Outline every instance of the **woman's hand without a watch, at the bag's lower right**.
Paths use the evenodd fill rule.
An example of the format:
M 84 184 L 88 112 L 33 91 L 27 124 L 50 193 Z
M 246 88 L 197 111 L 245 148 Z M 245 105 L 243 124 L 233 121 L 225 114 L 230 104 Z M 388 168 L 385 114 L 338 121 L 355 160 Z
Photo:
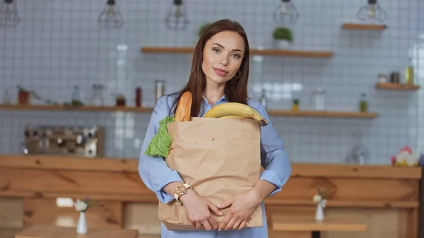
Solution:
M 228 208 L 231 206 L 223 222 L 220 223 L 218 230 L 241 230 L 245 227 L 247 220 L 249 220 L 260 203 L 261 198 L 259 194 L 257 194 L 257 191 L 250 189 L 236 196 L 232 201 L 218 204 L 218 208 Z

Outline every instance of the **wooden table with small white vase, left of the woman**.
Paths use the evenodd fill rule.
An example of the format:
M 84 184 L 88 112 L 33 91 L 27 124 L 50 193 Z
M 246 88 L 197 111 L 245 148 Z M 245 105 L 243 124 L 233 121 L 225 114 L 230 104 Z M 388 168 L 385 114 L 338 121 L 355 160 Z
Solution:
M 15 238 L 136 238 L 138 236 L 137 230 L 88 227 L 87 234 L 77 234 L 74 227 L 34 225 L 16 234 Z

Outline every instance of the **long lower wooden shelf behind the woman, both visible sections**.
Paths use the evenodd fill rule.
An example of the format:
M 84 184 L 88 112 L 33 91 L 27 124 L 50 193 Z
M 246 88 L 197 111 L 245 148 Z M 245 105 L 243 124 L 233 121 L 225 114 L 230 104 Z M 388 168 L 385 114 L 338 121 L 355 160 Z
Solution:
M 83 111 L 83 112 L 152 112 L 152 108 L 146 107 L 64 107 L 51 105 L 0 105 L 0 110 L 16 111 Z M 290 111 L 269 110 L 270 116 L 276 117 L 334 117 L 334 118 L 376 118 L 378 114 L 371 112 L 327 112 L 327 111 Z

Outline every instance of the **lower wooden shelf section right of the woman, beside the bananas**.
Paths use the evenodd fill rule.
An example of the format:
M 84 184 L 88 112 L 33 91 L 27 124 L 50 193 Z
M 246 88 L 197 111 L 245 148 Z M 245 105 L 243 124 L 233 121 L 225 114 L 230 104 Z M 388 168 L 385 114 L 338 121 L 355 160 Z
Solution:
M 332 117 L 332 118 L 363 118 L 373 119 L 378 117 L 374 112 L 328 112 L 328 111 L 277 111 L 270 110 L 270 116 L 277 117 Z

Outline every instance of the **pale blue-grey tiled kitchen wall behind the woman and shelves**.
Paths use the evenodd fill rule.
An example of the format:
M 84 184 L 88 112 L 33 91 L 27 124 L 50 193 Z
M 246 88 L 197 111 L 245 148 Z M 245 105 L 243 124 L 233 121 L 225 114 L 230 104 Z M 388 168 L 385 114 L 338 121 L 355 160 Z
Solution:
M 259 100 L 264 89 L 269 110 L 290 111 L 293 100 L 299 100 L 300 110 L 313 110 L 314 90 L 322 88 L 327 111 L 359 112 L 360 100 L 366 100 L 367 111 L 378 114 L 375 118 L 273 114 L 271 121 L 290 160 L 344 163 L 358 144 L 367 151 L 365 162 L 372 164 L 390 163 L 391 155 L 405 145 L 424 152 L 422 90 L 375 88 L 379 74 L 388 75 L 390 81 L 399 72 L 400 83 L 405 83 L 408 66 L 414 69 L 414 83 L 423 82 L 422 1 L 379 0 L 387 13 L 387 29 L 379 30 L 342 28 L 343 23 L 358 23 L 356 15 L 368 6 L 367 0 L 188 0 L 182 2 L 188 19 L 184 29 L 167 28 L 172 0 L 117 1 L 115 11 L 119 9 L 123 19 L 119 28 L 100 28 L 105 0 L 12 3 L 20 21 L 0 27 L 0 100 L 12 105 L 0 107 L 1 154 L 24 153 L 25 126 L 101 126 L 102 156 L 136 159 L 150 111 L 13 107 L 18 103 L 18 85 L 35 92 L 30 93 L 34 105 L 45 100 L 71 102 L 78 93 L 83 104 L 92 105 L 93 85 L 101 84 L 104 88 L 95 92 L 102 91 L 103 105 L 114 106 L 122 94 L 128 107 L 136 106 L 136 88 L 141 87 L 142 107 L 153 107 L 155 81 L 165 81 L 164 93 L 182 87 L 192 56 L 143 52 L 141 47 L 193 47 L 201 25 L 230 18 L 245 28 L 251 49 L 274 49 L 273 30 L 281 23 L 273 19 L 273 11 L 280 4 L 293 4 L 299 13 L 298 20 L 288 25 L 293 30 L 291 50 L 334 56 L 252 56 L 249 97 Z M 21 100 L 25 102 L 25 97 Z M 32 138 L 40 136 L 27 132 Z M 58 144 L 60 139 L 66 136 L 57 138 Z

